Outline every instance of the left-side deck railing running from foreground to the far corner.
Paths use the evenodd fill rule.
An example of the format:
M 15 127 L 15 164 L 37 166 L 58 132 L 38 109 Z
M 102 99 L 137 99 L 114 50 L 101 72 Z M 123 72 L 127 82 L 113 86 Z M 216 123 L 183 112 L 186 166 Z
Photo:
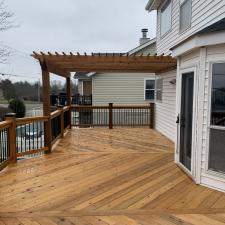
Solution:
M 46 128 L 51 127 L 50 142 Z M 16 119 L 6 115 L 0 123 L 0 170 L 19 158 L 30 158 L 50 152 L 52 145 L 70 127 L 70 107 L 60 107 L 50 117 Z

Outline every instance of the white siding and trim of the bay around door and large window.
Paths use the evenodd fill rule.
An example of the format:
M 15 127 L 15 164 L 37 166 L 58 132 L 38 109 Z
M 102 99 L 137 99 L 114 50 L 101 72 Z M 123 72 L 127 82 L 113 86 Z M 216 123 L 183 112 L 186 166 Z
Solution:
M 208 144 L 209 144 L 209 118 L 210 118 L 210 82 L 211 82 L 211 63 L 225 62 L 225 44 L 210 46 L 192 51 L 179 57 L 178 79 L 182 69 L 196 68 L 196 128 L 194 131 L 195 169 L 193 176 L 197 183 L 214 189 L 225 191 L 225 175 L 208 171 Z M 178 100 L 179 101 L 179 100 Z M 179 105 L 179 104 L 178 104 Z M 177 160 L 179 161 L 179 160 Z M 199 168 L 198 168 L 198 165 Z

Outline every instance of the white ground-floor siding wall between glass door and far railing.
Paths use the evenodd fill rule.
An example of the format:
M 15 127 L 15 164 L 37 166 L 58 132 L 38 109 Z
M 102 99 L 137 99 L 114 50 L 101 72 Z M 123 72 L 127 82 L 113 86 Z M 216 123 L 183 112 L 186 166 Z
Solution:
M 176 140 L 176 85 L 170 81 L 176 79 L 177 71 L 160 75 L 163 78 L 162 101 L 155 104 L 155 128 L 170 140 Z

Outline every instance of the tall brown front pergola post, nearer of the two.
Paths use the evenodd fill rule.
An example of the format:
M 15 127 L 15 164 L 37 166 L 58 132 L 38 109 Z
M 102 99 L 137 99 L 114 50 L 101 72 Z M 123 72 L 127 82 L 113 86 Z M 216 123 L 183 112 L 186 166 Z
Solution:
M 44 124 L 44 133 L 45 133 L 45 146 L 48 147 L 48 153 L 52 150 L 52 141 L 51 141 L 51 104 L 50 104 L 50 73 L 46 62 L 40 62 L 42 69 L 42 98 L 43 98 L 43 115 L 47 116 L 48 122 Z

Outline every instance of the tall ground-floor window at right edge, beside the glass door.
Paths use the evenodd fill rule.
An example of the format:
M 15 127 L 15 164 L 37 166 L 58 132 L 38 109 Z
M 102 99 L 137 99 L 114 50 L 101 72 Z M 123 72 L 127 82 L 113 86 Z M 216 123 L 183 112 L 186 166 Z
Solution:
M 212 67 L 209 169 L 225 172 L 225 63 Z

